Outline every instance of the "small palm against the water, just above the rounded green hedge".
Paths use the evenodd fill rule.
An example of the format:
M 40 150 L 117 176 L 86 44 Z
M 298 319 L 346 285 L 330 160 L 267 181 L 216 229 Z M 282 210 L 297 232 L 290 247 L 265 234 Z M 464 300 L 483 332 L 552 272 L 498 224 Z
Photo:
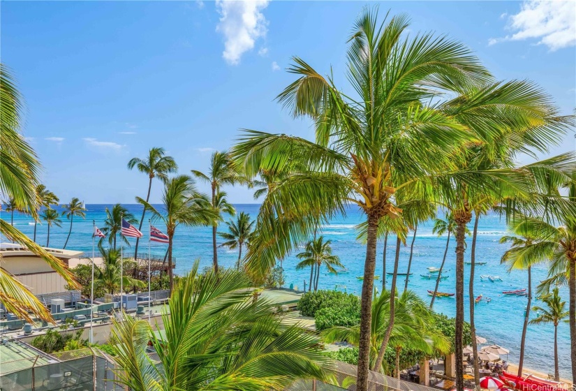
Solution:
M 296 265 L 296 270 L 304 269 L 304 267 L 313 267 L 316 271 L 316 276 L 310 280 L 310 289 L 312 289 L 312 283 L 314 284 L 314 290 L 318 290 L 318 279 L 320 278 L 320 267 L 325 265 L 328 272 L 337 274 L 337 270 L 334 266 L 344 267 L 340 263 L 339 256 L 332 254 L 332 240 L 324 241 L 324 237 L 320 235 L 316 239 L 311 240 L 306 244 L 306 248 L 302 253 L 298 253 L 296 257 L 300 259 L 300 263 Z M 310 273 L 310 276 L 312 273 Z

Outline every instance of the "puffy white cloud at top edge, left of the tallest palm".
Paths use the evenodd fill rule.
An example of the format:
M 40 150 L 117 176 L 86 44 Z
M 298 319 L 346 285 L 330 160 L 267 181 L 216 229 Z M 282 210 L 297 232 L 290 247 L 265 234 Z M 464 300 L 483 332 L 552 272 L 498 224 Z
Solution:
M 268 22 L 261 11 L 268 2 L 216 0 L 216 9 L 220 13 L 216 31 L 224 36 L 222 57 L 228 64 L 239 64 L 242 54 L 252 50 L 258 38 L 266 36 Z

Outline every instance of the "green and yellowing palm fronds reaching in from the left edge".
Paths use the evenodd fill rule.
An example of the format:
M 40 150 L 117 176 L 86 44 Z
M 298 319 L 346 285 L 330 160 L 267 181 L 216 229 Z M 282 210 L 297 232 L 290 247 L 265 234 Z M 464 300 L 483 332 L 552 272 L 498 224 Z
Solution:
M 40 163 L 36 152 L 20 133 L 22 128 L 22 96 L 15 86 L 13 75 L 0 63 L 0 193 L 15 200 L 22 210 L 29 210 L 38 219 L 38 172 Z M 48 253 L 11 224 L 0 219 L 0 233 L 39 256 L 64 278 L 72 288 L 78 283 L 58 258 Z M 6 310 L 32 323 L 32 316 L 52 320 L 50 311 L 26 286 L 0 267 L 0 302 Z

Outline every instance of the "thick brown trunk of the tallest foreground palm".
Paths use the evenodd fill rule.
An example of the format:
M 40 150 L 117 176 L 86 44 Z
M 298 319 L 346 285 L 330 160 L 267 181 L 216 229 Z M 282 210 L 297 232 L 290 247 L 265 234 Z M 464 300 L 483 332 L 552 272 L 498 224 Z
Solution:
M 370 344 L 372 323 L 372 292 L 374 291 L 374 270 L 376 269 L 376 241 L 378 239 L 377 214 L 368 214 L 366 260 L 364 261 L 364 280 L 360 304 L 360 341 L 358 344 L 357 391 L 368 390 L 368 371 L 370 369 Z

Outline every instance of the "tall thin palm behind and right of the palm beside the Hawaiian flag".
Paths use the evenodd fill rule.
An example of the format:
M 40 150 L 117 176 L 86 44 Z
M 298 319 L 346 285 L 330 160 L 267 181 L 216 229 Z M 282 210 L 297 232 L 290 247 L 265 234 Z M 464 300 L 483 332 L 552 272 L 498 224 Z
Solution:
M 210 168 L 207 174 L 198 170 L 192 170 L 191 172 L 192 175 L 210 185 L 210 191 L 212 192 L 211 203 L 214 209 L 217 209 L 216 198 L 221 187 L 225 184 L 235 184 L 241 180 L 237 171 L 232 168 L 230 154 L 226 151 L 216 151 L 212 153 L 212 157 L 210 158 Z M 217 228 L 217 226 L 212 226 L 212 263 L 214 264 L 214 270 L 216 271 L 218 271 L 218 251 L 216 251 Z

